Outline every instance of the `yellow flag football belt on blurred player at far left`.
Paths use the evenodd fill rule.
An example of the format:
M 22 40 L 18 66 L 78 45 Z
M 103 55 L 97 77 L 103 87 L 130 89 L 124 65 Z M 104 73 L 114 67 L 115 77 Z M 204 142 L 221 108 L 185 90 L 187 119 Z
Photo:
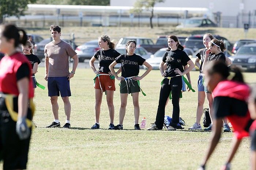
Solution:
M 6 108 L 9 112 L 12 120 L 17 121 L 18 113 L 14 111 L 14 104 L 13 104 L 13 99 L 14 99 L 14 97 L 17 97 L 17 96 L 14 96 L 12 94 L 0 93 L 0 97 L 4 98 Z M 29 99 L 29 108 L 31 109 L 31 119 L 32 119 L 32 117 L 34 116 L 34 112 L 35 112 L 35 105 L 34 105 L 32 99 Z M 34 128 L 34 124 L 32 123 L 32 120 L 30 120 L 28 118 L 26 118 L 26 124 L 27 124 L 27 127 Z

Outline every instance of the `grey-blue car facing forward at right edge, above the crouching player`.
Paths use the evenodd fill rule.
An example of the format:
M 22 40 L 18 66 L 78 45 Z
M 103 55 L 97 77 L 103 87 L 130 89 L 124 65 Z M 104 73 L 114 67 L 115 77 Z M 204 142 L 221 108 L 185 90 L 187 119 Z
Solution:
M 241 46 L 230 59 L 233 61 L 232 65 L 256 72 L 256 43 Z

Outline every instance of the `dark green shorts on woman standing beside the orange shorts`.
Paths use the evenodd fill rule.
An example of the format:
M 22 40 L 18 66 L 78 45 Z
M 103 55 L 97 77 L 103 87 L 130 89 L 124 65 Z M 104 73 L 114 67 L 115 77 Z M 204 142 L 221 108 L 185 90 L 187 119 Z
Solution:
M 137 81 L 134 81 L 132 79 L 128 79 L 128 80 L 126 80 L 126 82 L 125 82 L 125 80 L 121 81 L 120 93 L 128 93 L 128 94 L 130 94 L 130 93 L 140 92 L 140 87 L 139 87 Z

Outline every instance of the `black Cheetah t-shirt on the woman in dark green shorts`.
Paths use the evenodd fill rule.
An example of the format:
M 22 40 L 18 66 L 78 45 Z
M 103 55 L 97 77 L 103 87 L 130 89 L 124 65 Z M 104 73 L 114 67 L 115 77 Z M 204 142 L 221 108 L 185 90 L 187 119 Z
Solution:
M 146 59 L 136 54 L 121 54 L 119 57 L 116 58 L 116 62 L 122 64 L 123 77 L 138 76 L 140 66 L 143 65 L 144 61 L 146 61 Z

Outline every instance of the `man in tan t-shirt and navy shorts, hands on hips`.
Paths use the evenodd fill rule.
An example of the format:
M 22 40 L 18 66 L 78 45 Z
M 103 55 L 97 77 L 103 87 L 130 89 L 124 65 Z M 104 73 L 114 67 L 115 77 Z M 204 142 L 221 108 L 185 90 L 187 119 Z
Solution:
M 48 96 L 52 104 L 54 121 L 48 127 L 60 127 L 58 96 L 64 102 L 66 121 L 63 128 L 70 128 L 71 96 L 69 80 L 74 77 L 78 57 L 71 45 L 60 39 L 61 28 L 50 26 L 53 41 L 45 45 L 45 80 L 48 81 Z M 69 56 L 74 59 L 73 69 L 69 73 Z

